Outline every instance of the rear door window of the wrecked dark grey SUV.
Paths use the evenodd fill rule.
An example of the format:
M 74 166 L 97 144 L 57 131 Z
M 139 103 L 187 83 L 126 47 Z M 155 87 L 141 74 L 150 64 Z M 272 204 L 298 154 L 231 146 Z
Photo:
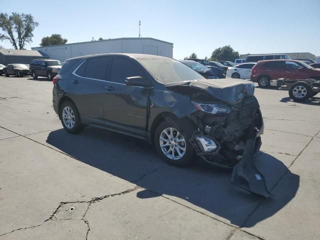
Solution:
M 106 79 L 109 59 L 110 57 L 93 57 L 87 59 L 84 76 L 94 79 Z

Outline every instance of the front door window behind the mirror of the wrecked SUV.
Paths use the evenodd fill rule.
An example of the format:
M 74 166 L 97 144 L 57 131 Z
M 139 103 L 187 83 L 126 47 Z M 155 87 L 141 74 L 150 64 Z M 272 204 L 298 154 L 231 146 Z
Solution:
M 112 61 L 110 81 L 124 83 L 126 77 L 142 76 L 142 69 L 131 59 L 115 57 Z

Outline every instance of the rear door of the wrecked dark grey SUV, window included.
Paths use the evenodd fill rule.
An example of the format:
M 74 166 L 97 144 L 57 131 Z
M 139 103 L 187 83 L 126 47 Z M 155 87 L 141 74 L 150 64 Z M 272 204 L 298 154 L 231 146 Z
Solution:
M 83 123 L 103 124 L 103 94 L 110 56 L 91 57 L 80 63 L 68 80 L 68 92 Z

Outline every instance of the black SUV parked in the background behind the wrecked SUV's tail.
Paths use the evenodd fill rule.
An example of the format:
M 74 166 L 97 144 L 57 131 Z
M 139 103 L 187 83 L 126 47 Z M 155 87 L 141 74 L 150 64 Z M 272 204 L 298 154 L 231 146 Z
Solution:
M 45 76 L 49 80 L 58 73 L 61 68 L 62 63 L 59 60 L 39 58 L 33 59 L 29 65 L 29 71 L 33 79 L 38 78 L 38 76 Z

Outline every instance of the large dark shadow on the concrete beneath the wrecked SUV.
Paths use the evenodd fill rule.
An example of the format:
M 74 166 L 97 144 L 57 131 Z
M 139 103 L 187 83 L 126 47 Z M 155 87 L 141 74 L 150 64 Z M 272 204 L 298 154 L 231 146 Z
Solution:
M 200 163 L 173 167 L 163 162 L 145 141 L 107 130 L 86 127 L 74 135 L 59 129 L 51 131 L 46 142 L 79 161 L 145 188 L 136 193 L 139 198 L 169 197 L 236 226 L 252 226 L 273 215 L 295 196 L 299 186 L 298 175 L 264 152 L 257 157 L 256 166 L 264 174 L 268 189 L 283 175 L 289 181 L 280 194 L 267 199 L 232 184 L 230 171 Z M 261 201 L 268 202 L 267 211 L 245 223 Z

